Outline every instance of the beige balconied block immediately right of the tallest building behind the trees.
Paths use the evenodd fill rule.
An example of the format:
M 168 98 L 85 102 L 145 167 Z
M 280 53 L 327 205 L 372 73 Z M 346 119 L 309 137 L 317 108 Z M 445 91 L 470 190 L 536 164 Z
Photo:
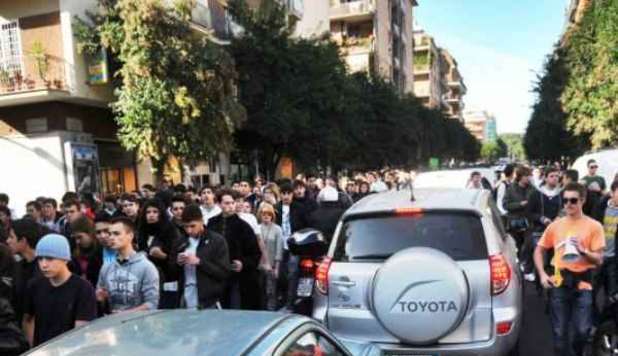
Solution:
M 414 95 L 429 108 L 446 109 L 446 65 L 434 38 L 414 31 Z

